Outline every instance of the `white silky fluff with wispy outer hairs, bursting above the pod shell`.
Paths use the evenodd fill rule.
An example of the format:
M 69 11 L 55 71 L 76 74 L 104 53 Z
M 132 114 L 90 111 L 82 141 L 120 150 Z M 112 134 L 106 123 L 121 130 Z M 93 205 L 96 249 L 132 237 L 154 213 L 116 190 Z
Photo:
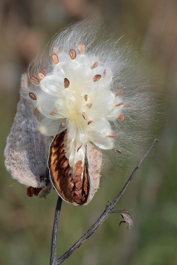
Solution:
M 38 130 L 55 136 L 67 129 L 64 146 L 73 168 L 79 160 L 84 164 L 89 141 L 119 152 L 124 117 L 133 126 L 135 115 L 142 117 L 148 108 L 141 84 L 128 73 L 124 49 L 103 41 L 104 34 L 89 24 L 76 23 L 59 33 L 50 54 L 39 55 L 29 67 L 29 92 L 36 96 L 31 100 L 40 112 Z

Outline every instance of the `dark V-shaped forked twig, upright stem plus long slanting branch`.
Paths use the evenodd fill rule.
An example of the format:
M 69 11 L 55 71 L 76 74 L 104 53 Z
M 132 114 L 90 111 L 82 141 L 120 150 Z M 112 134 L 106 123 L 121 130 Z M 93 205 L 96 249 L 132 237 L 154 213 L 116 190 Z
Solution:
M 104 210 L 104 212 L 102 213 L 102 215 L 98 218 L 98 220 L 93 224 L 93 226 L 91 226 L 88 231 L 70 248 L 66 251 L 66 253 L 64 253 L 58 260 L 56 260 L 56 247 L 57 247 L 57 227 L 58 227 L 58 221 L 59 221 L 59 213 L 60 213 L 60 209 L 61 209 L 61 203 L 60 203 L 60 209 L 59 209 L 59 213 L 56 213 L 57 211 L 57 207 L 56 207 L 56 211 L 55 211 L 55 219 L 54 219 L 54 229 L 53 229 L 53 235 L 52 235 L 52 246 L 51 246 L 51 263 L 50 265 L 61 265 L 68 257 L 70 257 L 70 255 L 72 255 L 96 230 L 98 227 L 101 226 L 101 224 L 104 222 L 104 220 L 108 217 L 109 214 L 114 213 L 113 207 L 116 205 L 116 203 L 119 201 L 120 197 L 122 197 L 123 193 L 126 191 L 126 189 L 128 188 L 129 184 L 131 183 L 133 177 L 136 174 L 136 171 L 139 169 L 139 166 L 141 165 L 141 163 L 144 161 L 144 159 L 146 158 L 146 156 L 149 154 L 150 150 L 152 149 L 152 147 L 154 146 L 154 144 L 158 142 L 158 139 L 154 139 L 153 143 L 151 144 L 151 146 L 149 147 L 148 151 L 145 153 L 145 155 L 143 156 L 143 158 L 140 160 L 140 162 L 137 164 L 137 166 L 135 167 L 135 169 L 133 170 L 131 176 L 129 177 L 129 179 L 127 180 L 126 184 L 124 185 L 124 187 L 121 189 L 121 191 L 119 192 L 119 194 L 115 197 L 115 199 L 110 202 L 110 205 L 106 205 L 106 209 Z M 58 198 L 58 201 L 61 200 Z M 57 201 L 57 205 L 58 205 L 58 201 Z M 116 211 L 119 212 L 120 210 Z M 58 217 L 57 217 L 58 214 Z M 56 223 L 55 223 L 56 222 Z M 54 241 L 54 242 L 53 242 Z M 52 263 L 53 262 L 53 263 Z

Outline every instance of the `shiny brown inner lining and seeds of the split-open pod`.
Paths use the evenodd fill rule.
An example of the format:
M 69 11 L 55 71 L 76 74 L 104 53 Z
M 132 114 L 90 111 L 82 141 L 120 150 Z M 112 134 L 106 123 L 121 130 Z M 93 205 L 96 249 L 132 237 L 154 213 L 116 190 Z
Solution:
M 89 195 L 87 155 L 85 155 L 83 181 L 81 181 L 82 167 L 76 169 L 76 176 L 73 178 L 69 161 L 65 156 L 64 143 L 66 140 L 64 138 L 66 137 L 67 131 L 63 131 L 55 136 L 50 145 L 48 161 L 50 178 L 54 188 L 63 200 L 74 205 L 83 205 L 87 202 Z M 79 161 L 77 163 L 79 166 Z M 77 165 L 75 166 L 77 167 Z

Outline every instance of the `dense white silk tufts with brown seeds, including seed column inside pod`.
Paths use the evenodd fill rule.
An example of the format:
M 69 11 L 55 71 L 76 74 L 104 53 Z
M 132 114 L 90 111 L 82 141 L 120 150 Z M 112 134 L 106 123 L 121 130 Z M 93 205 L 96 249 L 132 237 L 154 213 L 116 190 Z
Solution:
M 85 54 L 85 45 L 69 54 L 54 47 L 51 55 L 53 70 L 43 68 L 38 77 L 31 76 L 36 93 L 29 97 L 36 113 L 43 120 L 35 133 L 46 136 L 59 135 L 58 160 L 73 200 L 84 200 L 87 195 L 87 172 L 85 146 L 88 142 L 101 149 L 113 149 L 118 135 L 111 129 L 110 122 L 123 121 L 123 90 L 112 91 L 111 67 L 93 55 Z M 64 134 L 63 134 L 64 132 Z M 85 179 L 85 180 L 84 180 Z

